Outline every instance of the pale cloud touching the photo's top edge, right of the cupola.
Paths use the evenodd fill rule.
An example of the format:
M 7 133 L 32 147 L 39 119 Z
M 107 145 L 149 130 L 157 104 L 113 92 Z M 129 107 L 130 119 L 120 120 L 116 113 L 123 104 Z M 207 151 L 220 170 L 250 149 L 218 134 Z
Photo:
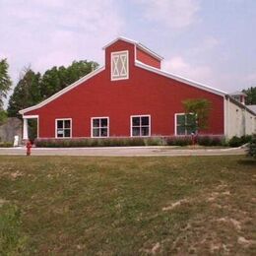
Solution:
M 139 2 L 143 4 L 143 15 L 146 19 L 175 29 L 193 24 L 200 9 L 199 0 L 139 0 Z

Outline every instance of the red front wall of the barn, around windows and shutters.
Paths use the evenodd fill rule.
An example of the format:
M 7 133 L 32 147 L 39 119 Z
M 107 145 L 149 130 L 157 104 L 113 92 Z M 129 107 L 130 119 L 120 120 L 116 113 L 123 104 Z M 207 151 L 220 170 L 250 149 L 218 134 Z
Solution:
M 110 52 L 129 50 L 129 79 L 110 81 Z M 208 134 L 224 134 L 224 98 L 136 67 L 134 45 L 117 41 L 105 50 L 105 69 L 42 106 L 27 112 L 39 115 L 39 137 L 55 137 L 55 118 L 72 118 L 73 137 L 91 136 L 91 117 L 109 116 L 110 136 L 130 136 L 130 116 L 150 114 L 152 135 L 173 135 L 174 114 L 181 101 L 208 98 L 213 103 Z

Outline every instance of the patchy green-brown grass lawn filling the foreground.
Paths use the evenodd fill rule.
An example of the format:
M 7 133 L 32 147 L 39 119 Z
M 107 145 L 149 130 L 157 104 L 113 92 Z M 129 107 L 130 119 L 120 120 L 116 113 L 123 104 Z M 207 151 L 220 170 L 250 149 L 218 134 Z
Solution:
M 256 161 L 0 156 L 0 254 L 256 254 Z

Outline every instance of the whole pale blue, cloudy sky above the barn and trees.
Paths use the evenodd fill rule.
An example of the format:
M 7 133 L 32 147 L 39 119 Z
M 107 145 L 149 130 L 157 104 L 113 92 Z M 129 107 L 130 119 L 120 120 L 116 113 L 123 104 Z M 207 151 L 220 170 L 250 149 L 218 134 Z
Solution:
M 227 93 L 256 86 L 255 0 L 0 0 L 13 87 L 29 65 L 103 65 L 102 47 L 120 35 L 163 56 L 170 73 Z

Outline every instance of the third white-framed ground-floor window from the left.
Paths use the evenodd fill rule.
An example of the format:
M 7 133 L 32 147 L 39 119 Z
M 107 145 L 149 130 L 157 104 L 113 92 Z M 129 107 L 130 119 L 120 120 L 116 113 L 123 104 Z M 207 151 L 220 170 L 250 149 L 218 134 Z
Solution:
M 131 116 L 131 136 L 150 136 L 151 135 L 150 115 Z

